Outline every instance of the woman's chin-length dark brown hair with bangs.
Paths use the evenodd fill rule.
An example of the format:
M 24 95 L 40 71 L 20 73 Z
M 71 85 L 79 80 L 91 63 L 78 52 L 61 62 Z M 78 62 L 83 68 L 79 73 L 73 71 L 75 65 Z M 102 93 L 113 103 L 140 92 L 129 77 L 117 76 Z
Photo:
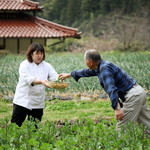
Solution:
M 42 44 L 39 43 L 32 43 L 26 53 L 26 57 L 28 59 L 29 62 L 33 62 L 32 60 L 32 54 L 33 52 L 42 52 L 43 53 L 43 60 L 45 60 L 45 50 L 44 47 L 42 46 Z

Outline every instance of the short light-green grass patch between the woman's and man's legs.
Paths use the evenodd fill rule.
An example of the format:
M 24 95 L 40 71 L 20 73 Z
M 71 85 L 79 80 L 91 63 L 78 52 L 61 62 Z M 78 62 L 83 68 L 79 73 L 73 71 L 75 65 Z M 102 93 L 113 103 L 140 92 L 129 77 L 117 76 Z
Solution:
M 46 102 L 44 120 L 112 119 L 114 112 L 108 100 Z

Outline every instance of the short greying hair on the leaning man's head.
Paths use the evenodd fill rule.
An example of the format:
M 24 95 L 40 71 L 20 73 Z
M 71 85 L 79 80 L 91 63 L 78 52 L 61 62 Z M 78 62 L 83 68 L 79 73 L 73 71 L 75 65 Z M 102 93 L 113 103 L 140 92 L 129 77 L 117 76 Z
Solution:
M 101 56 L 95 49 L 89 49 L 84 54 L 85 60 L 92 60 L 94 62 L 100 62 Z

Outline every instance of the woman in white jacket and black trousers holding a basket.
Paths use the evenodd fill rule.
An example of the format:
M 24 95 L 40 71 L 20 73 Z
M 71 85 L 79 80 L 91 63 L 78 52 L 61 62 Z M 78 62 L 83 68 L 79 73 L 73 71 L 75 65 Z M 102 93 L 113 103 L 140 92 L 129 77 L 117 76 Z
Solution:
M 41 44 L 33 43 L 26 54 L 27 59 L 19 67 L 19 82 L 14 100 L 12 123 L 19 127 L 26 116 L 41 121 L 45 101 L 45 87 L 48 80 L 57 80 L 58 74 L 54 68 L 45 62 L 45 51 Z

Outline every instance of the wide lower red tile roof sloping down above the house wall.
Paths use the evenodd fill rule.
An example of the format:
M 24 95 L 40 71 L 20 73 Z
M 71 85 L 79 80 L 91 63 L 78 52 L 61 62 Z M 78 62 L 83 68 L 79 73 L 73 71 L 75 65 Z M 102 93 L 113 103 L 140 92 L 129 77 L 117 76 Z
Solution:
M 77 29 L 62 26 L 38 17 L 18 13 L 0 19 L 0 38 L 80 37 Z

